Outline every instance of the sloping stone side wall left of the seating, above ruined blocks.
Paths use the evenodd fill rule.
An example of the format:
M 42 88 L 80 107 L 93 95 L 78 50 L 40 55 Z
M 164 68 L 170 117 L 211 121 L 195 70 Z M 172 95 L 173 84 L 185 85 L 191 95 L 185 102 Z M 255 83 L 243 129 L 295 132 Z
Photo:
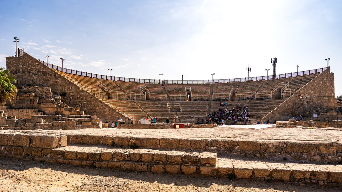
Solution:
M 71 83 L 32 56 L 24 53 L 23 57 L 6 57 L 7 69 L 17 80 L 17 87 L 23 86 L 50 87 L 52 94 L 66 93 L 70 106 L 77 106 L 86 114 L 96 115 L 102 121 L 111 122 L 125 116 L 109 107 L 92 94 Z

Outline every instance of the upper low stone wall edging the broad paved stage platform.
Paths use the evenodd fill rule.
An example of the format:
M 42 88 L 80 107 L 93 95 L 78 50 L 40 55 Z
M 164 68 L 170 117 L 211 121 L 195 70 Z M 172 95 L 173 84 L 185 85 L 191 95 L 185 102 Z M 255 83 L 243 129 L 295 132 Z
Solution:
M 259 142 L 255 140 L 232 141 L 227 139 L 178 139 L 115 137 L 97 135 L 68 135 L 69 144 L 108 145 L 129 147 L 134 140 L 138 147 L 147 149 L 185 150 L 186 152 L 233 153 L 251 157 L 291 159 L 294 161 L 339 163 L 342 161 L 342 144 L 332 142 L 297 143 L 291 141 Z

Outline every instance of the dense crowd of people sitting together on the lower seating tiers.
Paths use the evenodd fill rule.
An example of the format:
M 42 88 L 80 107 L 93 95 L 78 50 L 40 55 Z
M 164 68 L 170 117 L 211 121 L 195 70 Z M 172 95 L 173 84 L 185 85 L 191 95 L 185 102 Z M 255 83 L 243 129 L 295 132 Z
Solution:
M 221 103 L 220 103 L 221 106 Z M 208 121 L 223 125 L 224 121 L 233 121 L 231 124 L 235 124 L 238 121 L 245 121 L 245 124 L 249 123 L 251 114 L 247 112 L 248 105 L 236 105 L 236 108 L 221 108 L 213 113 L 209 114 Z

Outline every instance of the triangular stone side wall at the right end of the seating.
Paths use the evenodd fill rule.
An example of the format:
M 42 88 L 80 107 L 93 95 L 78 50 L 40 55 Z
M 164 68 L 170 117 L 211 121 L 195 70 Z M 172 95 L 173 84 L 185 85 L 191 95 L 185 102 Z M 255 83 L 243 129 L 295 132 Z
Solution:
M 303 106 L 304 113 L 311 108 L 333 110 L 337 107 L 334 90 L 334 73 L 330 73 L 328 68 L 267 114 L 262 121 L 284 121 L 292 117 L 299 117 L 303 115 Z M 303 105 L 301 98 L 305 97 Z M 305 113 L 304 118 L 307 115 L 309 114 Z M 319 115 L 317 117 L 320 118 Z

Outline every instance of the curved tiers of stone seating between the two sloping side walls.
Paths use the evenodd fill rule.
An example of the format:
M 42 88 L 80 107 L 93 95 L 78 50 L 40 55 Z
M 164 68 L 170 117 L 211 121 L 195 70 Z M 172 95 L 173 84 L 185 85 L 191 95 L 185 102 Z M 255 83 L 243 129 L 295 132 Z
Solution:
M 179 116 L 181 121 L 197 122 L 197 119 L 207 119 L 208 110 L 210 113 L 220 108 L 235 108 L 237 104 L 248 104 L 251 121 L 261 121 L 295 91 L 319 75 L 251 82 L 161 85 L 110 81 L 54 71 L 126 117 L 134 120 L 158 117 L 159 122 L 165 122 L 166 118 L 172 122 L 175 116 Z M 254 99 L 251 99 L 252 96 Z M 220 106 L 223 101 L 226 105 Z M 170 110 L 168 103 L 175 103 L 174 106 L 178 108 Z M 177 110 L 180 108 L 178 105 L 181 110 Z

